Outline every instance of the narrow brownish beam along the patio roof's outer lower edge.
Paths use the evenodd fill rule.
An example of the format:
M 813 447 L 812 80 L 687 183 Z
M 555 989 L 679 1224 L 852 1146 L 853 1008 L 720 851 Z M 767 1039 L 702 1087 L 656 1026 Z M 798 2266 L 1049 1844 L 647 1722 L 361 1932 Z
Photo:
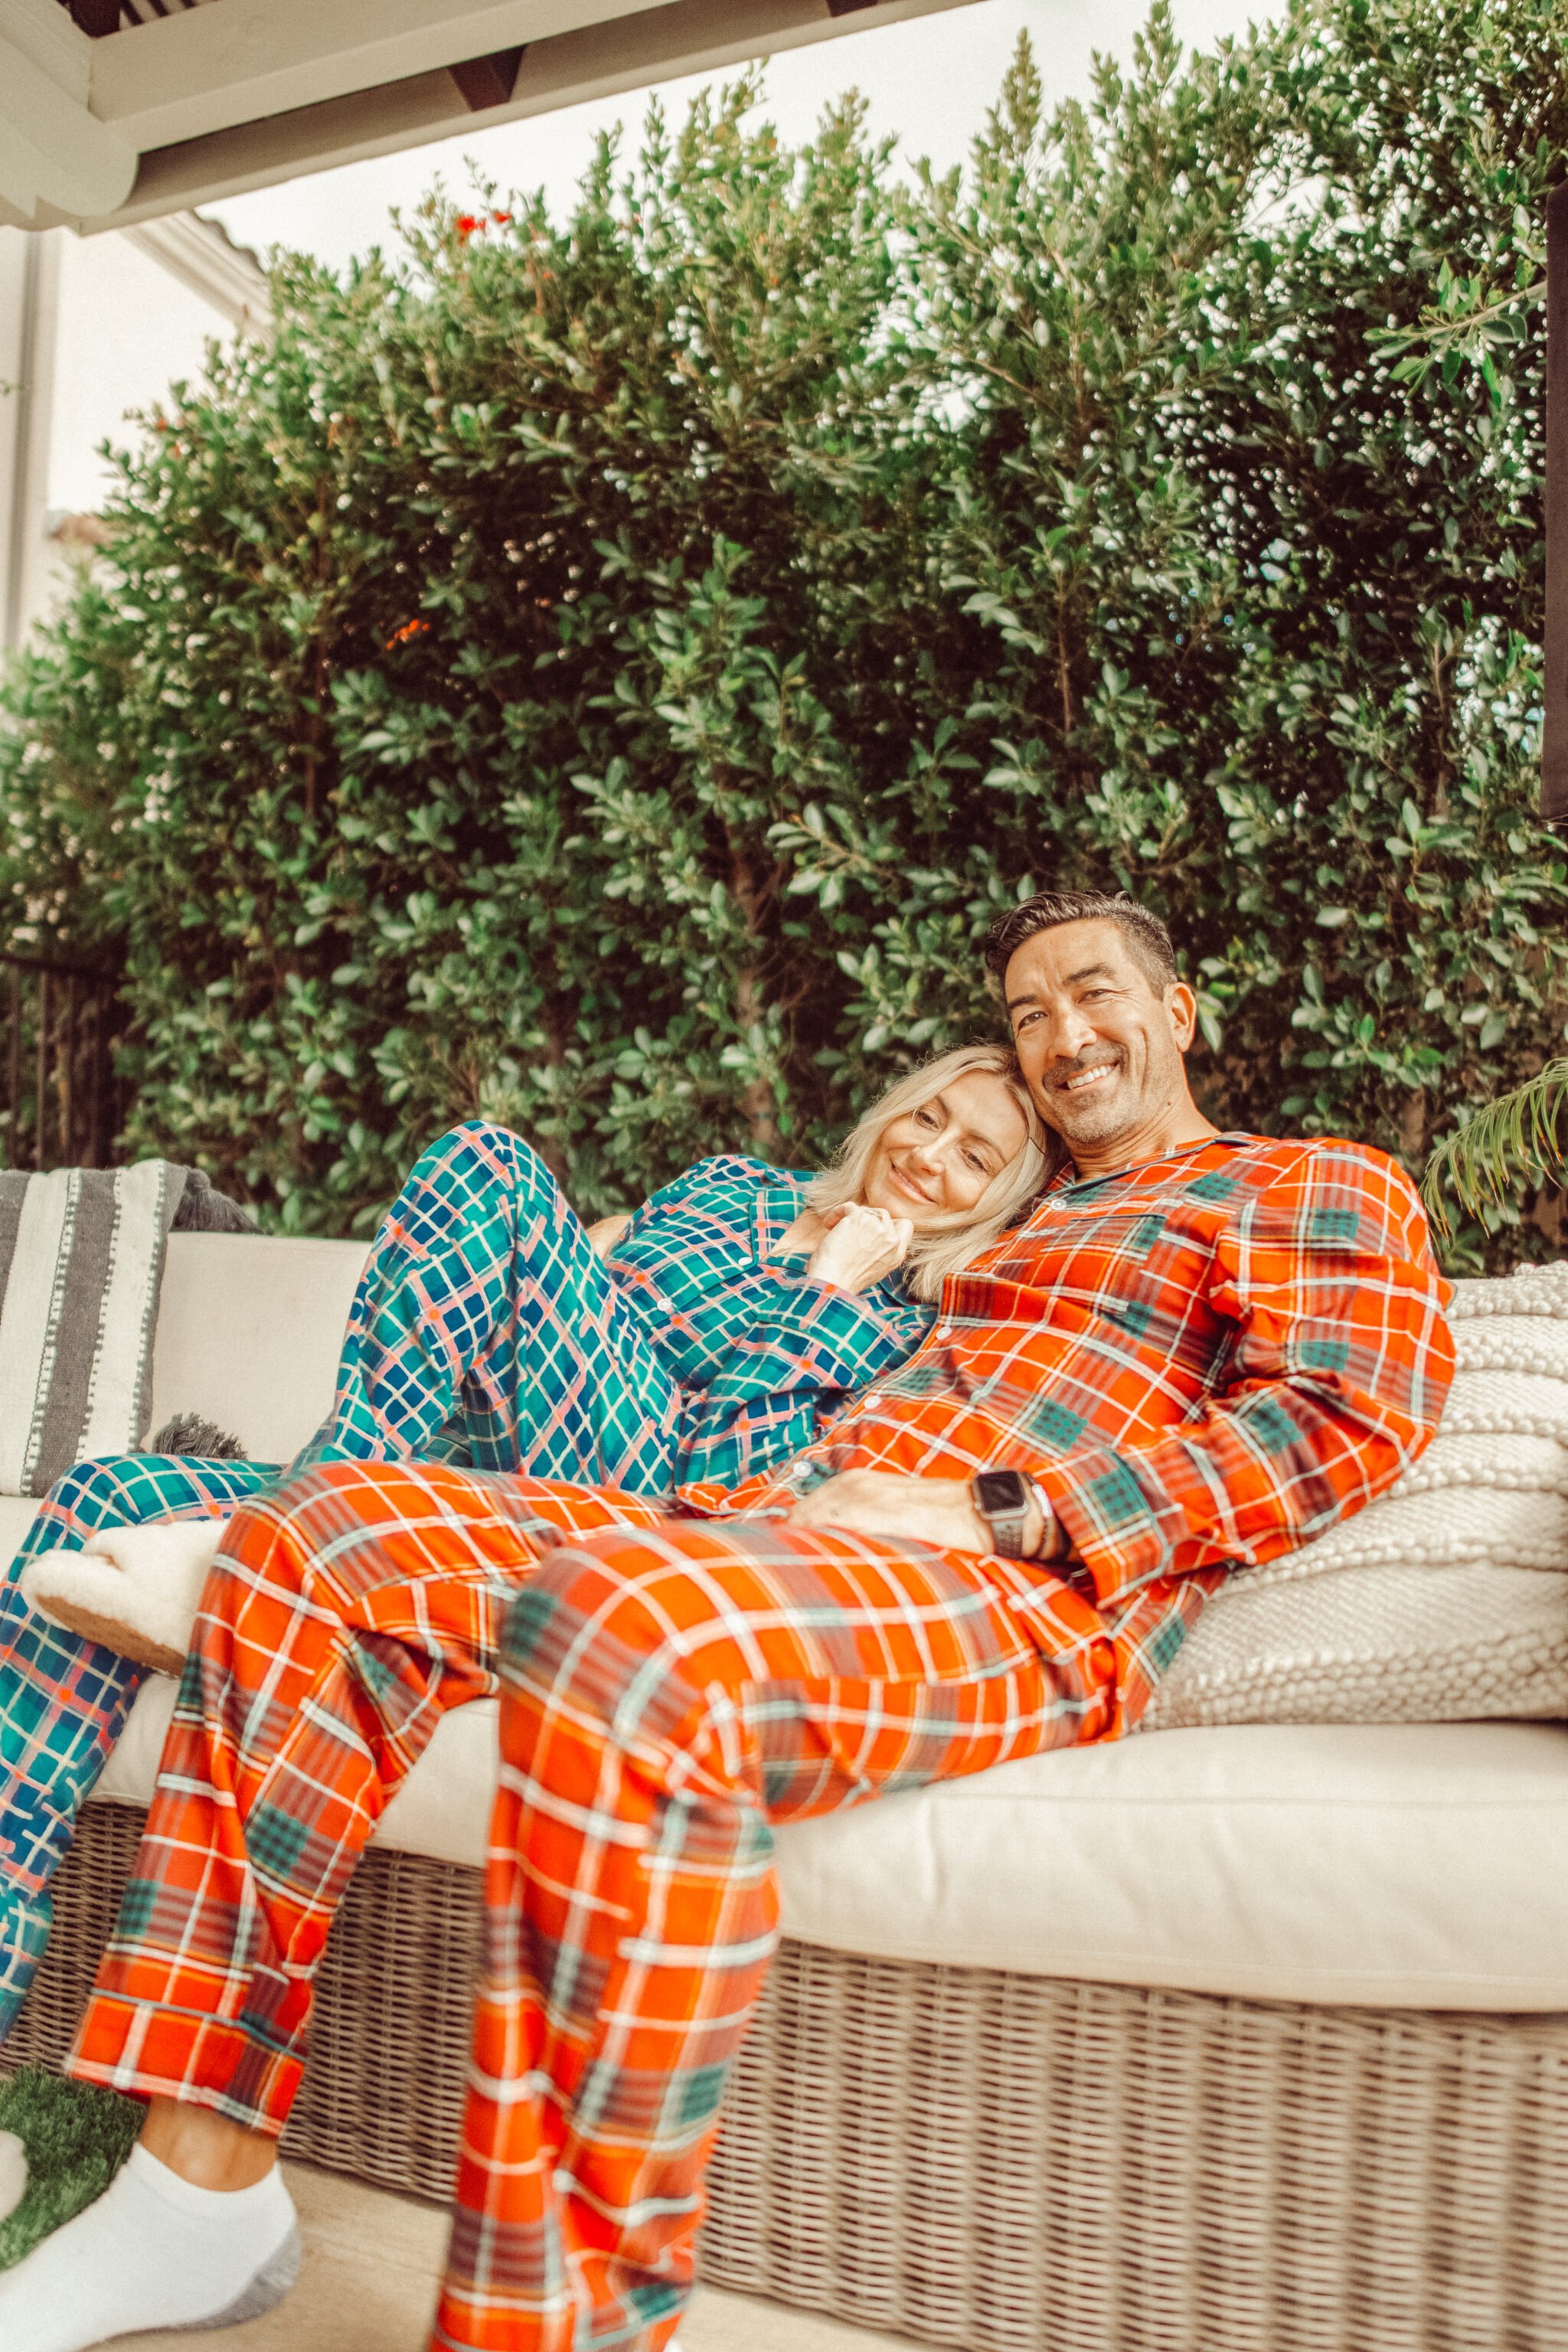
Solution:
M 193 14 L 221 16 L 233 5 L 235 0 L 221 0 Z M 879 24 L 903 24 L 954 5 L 964 7 L 969 0 L 882 0 L 877 7 L 846 14 L 835 14 L 827 0 L 668 0 L 637 16 L 531 42 L 510 101 L 482 115 L 468 111 L 451 75 L 442 71 L 172 143 L 143 155 L 125 205 L 82 219 L 80 226 L 120 228 L 223 195 L 273 188 L 306 172 L 329 172 L 367 155 L 393 155 L 433 139 L 451 139 L 470 127 L 520 122 L 588 99 L 646 89 L 651 82 L 686 73 L 715 73 L 769 52 L 797 49 L 837 33 L 867 33 Z

